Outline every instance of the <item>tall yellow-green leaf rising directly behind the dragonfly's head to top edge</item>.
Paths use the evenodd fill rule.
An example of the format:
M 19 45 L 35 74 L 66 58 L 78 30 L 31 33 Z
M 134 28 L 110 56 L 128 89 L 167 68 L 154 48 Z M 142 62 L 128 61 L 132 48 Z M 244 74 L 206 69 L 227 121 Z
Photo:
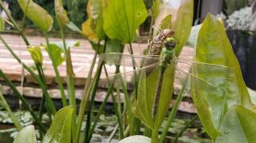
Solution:
M 174 2 L 171 0 L 169 2 Z M 174 6 L 175 9 L 175 6 Z M 175 11 L 175 10 L 174 10 Z M 194 16 L 194 1 L 184 0 L 181 1 L 176 14 L 172 14 L 172 29 L 175 31 L 175 38 L 178 38 L 179 43 L 175 47 L 175 54 L 178 57 L 182 51 L 182 47 L 186 44 L 190 36 L 190 30 L 193 23 Z

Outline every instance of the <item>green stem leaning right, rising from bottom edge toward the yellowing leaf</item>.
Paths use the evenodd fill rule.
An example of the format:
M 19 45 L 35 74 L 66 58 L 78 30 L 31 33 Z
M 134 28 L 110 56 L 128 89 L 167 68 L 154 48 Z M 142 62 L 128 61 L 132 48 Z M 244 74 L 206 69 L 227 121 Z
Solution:
M 99 46 L 99 43 L 98 43 L 98 46 Z M 91 77 L 92 77 L 92 73 L 94 70 L 96 59 L 97 59 L 97 52 L 95 52 L 95 54 L 94 54 L 94 59 L 90 65 L 90 70 L 89 70 L 88 76 L 86 78 L 86 85 L 84 86 L 84 89 L 83 89 L 83 94 L 82 94 L 83 96 L 82 96 L 82 100 L 80 103 L 80 109 L 79 109 L 79 113 L 78 113 L 78 123 L 77 123 L 77 131 L 76 131 L 77 134 L 75 137 L 75 142 L 77 142 L 77 143 L 79 142 L 82 120 L 83 120 L 83 116 L 86 111 L 86 105 L 87 105 L 87 101 L 89 99 L 90 89 L 92 88 L 92 85 L 93 85 L 92 83 L 94 83 L 94 80 L 92 80 Z

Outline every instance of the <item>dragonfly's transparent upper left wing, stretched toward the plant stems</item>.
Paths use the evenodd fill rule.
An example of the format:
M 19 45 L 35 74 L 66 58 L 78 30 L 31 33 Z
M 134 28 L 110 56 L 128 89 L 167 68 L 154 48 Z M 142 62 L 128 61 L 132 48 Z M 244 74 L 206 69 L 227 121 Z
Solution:
M 99 59 L 106 62 L 106 64 L 110 66 L 116 65 L 141 68 L 143 66 L 150 66 L 151 61 L 154 61 L 154 63 L 159 62 L 161 57 L 157 55 L 134 56 L 131 54 L 107 53 L 100 54 Z

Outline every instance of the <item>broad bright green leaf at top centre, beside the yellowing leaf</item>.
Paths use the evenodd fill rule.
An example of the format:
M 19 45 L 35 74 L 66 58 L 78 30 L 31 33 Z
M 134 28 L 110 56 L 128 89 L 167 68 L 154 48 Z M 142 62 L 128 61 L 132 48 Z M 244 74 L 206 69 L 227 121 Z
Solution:
M 146 16 L 143 0 L 110 0 L 103 6 L 103 28 L 108 37 L 130 43 Z

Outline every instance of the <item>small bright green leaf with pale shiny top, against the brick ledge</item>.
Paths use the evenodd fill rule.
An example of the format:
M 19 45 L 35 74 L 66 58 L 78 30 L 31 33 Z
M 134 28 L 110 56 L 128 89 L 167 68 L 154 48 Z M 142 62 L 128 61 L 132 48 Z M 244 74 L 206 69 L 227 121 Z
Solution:
M 76 41 L 67 41 L 66 47 L 67 50 L 70 49 L 70 47 L 79 46 L 80 42 Z M 46 48 L 46 51 L 48 52 L 48 47 L 46 45 L 43 45 Z M 53 55 L 54 55 L 54 61 L 56 62 L 57 66 L 60 66 L 62 62 L 66 59 L 66 54 L 63 46 L 63 42 L 51 42 L 50 47 L 52 49 Z

